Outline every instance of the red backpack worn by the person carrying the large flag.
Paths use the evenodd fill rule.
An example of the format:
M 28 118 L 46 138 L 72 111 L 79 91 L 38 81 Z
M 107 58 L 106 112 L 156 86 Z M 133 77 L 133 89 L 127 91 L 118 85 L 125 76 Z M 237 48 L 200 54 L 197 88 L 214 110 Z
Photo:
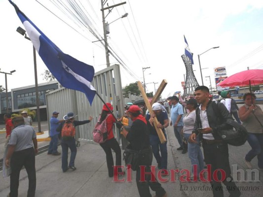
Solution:
M 93 134 L 93 141 L 101 144 L 106 142 L 108 138 L 108 131 L 107 131 L 107 118 L 110 116 L 110 114 L 107 115 L 107 117 L 100 123 L 97 122 L 95 125 L 94 130 L 92 131 Z M 101 119 L 101 117 L 100 117 Z M 99 120 L 100 120 L 99 119 Z

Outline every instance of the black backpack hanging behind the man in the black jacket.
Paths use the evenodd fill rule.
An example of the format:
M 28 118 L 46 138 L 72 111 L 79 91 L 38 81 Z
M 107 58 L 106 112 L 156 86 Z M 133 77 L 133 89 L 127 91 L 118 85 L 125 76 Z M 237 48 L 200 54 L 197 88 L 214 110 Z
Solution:
M 215 114 L 220 116 L 218 103 L 213 101 L 212 107 Z M 233 129 L 218 131 L 222 140 L 232 146 L 241 146 L 245 144 L 248 138 L 248 131 L 246 128 L 234 120 L 227 120 L 225 124 L 228 124 Z

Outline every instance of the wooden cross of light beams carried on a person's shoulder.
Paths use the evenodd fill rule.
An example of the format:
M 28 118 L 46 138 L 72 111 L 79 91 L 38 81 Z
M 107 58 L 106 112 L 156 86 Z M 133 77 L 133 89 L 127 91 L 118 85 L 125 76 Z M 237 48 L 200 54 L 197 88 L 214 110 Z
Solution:
M 153 110 L 151 108 L 151 105 L 156 102 L 156 100 L 161 96 L 162 94 L 162 91 L 164 90 L 165 86 L 166 86 L 167 82 L 166 80 L 162 80 L 157 92 L 155 93 L 154 97 L 152 98 L 151 102 L 149 102 L 147 96 L 146 96 L 146 93 L 144 92 L 144 88 L 143 88 L 143 85 L 140 81 L 138 81 L 138 87 L 139 87 L 139 90 L 141 91 L 142 93 L 142 96 L 143 96 L 143 99 L 144 99 L 144 102 L 147 106 L 147 109 L 149 110 L 150 114 L 153 113 Z M 162 132 L 162 130 L 160 128 L 157 128 L 157 124 L 158 124 L 158 120 L 156 118 L 156 116 L 154 117 L 154 121 L 153 121 L 153 125 L 154 125 L 154 128 L 155 130 L 157 131 L 157 134 L 158 134 L 158 137 L 161 141 L 161 143 L 165 143 L 166 142 L 166 139 L 164 137 L 164 134 Z

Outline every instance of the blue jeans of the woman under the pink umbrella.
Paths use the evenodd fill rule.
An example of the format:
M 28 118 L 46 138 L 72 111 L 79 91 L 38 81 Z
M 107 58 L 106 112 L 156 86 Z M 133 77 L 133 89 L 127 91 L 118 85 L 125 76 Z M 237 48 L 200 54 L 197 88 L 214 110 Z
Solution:
M 248 143 L 251 150 L 246 155 L 245 159 L 248 162 L 258 156 L 258 165 L 263 168 L 263 133 L 248 133 Z

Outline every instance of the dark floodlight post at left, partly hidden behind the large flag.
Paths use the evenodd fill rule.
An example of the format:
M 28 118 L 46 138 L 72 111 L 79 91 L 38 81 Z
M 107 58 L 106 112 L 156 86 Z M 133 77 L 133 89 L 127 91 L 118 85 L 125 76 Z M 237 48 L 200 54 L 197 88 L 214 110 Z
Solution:
M 16 30 L 18 33 L 23 35 L 26 39 L 31 40 L 27 34 L 26 31 L 18 27 Z M 36 87 L 36 102 L 37 102 L 37 116 L 38 116 L 38 132 L 41 132 L 41 124 L 40 124 L 40 110 L 39 110 L 39 95 L 38 95 L 38 71 L 37 71 L 37 57 L 36 57 L 36 49 L 33 45 L 33 58 L 34 58 L 34 70 L 35 70 L 35 87 Z

